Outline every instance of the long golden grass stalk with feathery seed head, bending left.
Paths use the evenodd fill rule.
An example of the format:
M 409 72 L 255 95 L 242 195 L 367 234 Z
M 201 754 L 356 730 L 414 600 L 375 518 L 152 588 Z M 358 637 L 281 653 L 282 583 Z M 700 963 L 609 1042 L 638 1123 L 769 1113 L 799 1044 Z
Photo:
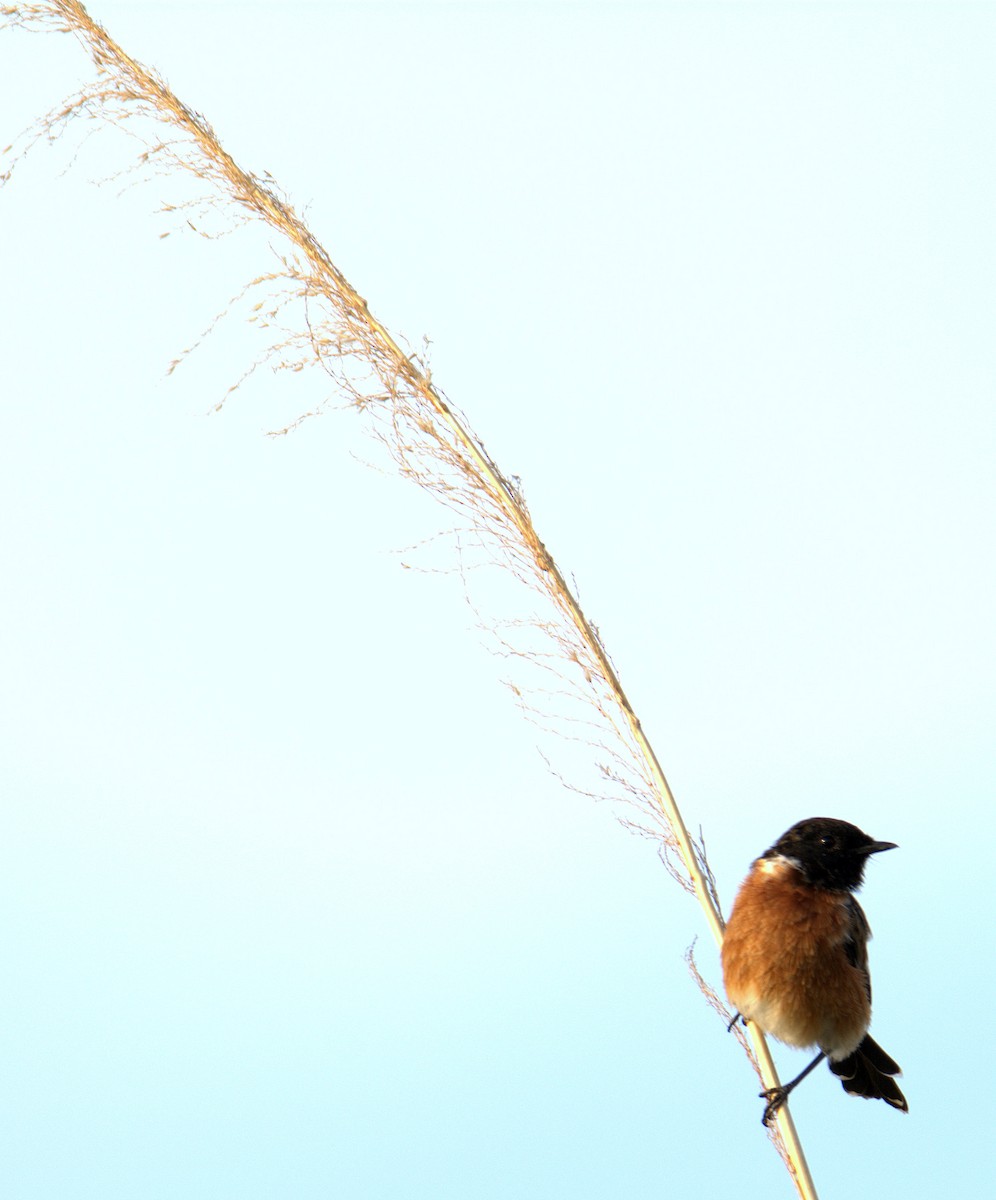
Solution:
M 665 865 L 695 894 L 720 943 L 724 920 L 704 853 L 689 835 L 598 630 L 540 540 L 517 481 L 502 473 L 467 420 L 432 382 L 424 358 L 398 346 L 293 208 L 277 194 L 272 181 L 244 170 L 222 148 L 205 118 L 184 104 L 155 72 L 126 54 L 82 4 L 49 0 L 4 6 L 0 18 L 7 26 L 73 34 L 97 67 L 88 86 L 29 131 L 0 182 L 10 179 L 14 163 L 37 140 L 59 137 L 77 119 L 101 121 L 127 127 L 142 143 L 138 162 L 130 169 L 184 172 L 198 181 L 198 197 L 164 205 L 164 211 L 203 215 L 221 205 L 229 226 L 263 222 L 271 242 L 277 235 L 277 269 L 252 280 L 235 301 L 262 295 L 250 319 L 268 329 L 280 328 L 281 336 L 276 341 L 271 337 L 263 356 L 229 394 L 264 362 L 278 370 L 322 367 L 334 380 L 334 395 L 370 419 L 401 474 L 457 515 L 461 552 L 469 536 L 486 560 L 526 584 L 534 601 L 536 594 L 542 598 L 545 614 L 492 626 L 505 653 L 547 673 L 550 688 L 541 691 L 544 700 L 539 703 L 534 692 L 512 685 L 520 703 L 541 722 L 556 720 L 548 706 L 551 697 L 558 696 L 580 701 L 594 714 L 581 722 L 581 739 L 594 744 L 607 760 L 598 764 L 602 785 L 637 809 L 637 820 L 624 823 L 659 839 Z M 192 221 L 188 223 L 193 227 Z M 300 317 L 296 322 L 295 312 Z M 313 413 L 275 432 L 286 433 L 308 415 Z M 709 1002 L 728 1020 L 730 1014 L 698 973 L 691 954 L 689 965 Z M 737 1038 L 763 1086 L 776 1086 L 763 1037 L 754 1026 L 748 1033 L 754 1052 L 737 1027 Z M 816 1190 L 787 1108 L 780 1110 L 778 1128 L 770 1136 L 799 1195 L 815 1200 Z

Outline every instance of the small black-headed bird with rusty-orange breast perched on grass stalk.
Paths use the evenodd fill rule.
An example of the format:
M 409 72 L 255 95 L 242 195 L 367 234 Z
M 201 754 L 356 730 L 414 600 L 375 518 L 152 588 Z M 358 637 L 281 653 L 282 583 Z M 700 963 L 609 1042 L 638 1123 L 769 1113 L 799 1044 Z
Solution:
M 871 930 L 854 892 L 871 854 L 896 850 L 833 817 L 799 821 L 754 860 L 722 940 L 726 995 L 738 1018 L 799 1049 L 818 1049 L 791 1082 L 761 1093 L 768 1126 L 824 1058 L 845 1092 L 908 1112 L 899 1064 L 871 1038 Z

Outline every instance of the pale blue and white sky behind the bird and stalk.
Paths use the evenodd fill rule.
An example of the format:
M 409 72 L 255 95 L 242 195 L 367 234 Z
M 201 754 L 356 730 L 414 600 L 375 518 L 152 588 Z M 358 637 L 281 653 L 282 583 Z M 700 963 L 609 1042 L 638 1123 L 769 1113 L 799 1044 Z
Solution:
M 725 906 L 803 817 L 900 844 L 911 1112 L 806 1081 L 824 1200 L 991 1187 L 996 6 L 90 11 L 431 338 Z M 0 146 L 90 73 L 0 34 Z M 317 372 L 214 414 L 240 319 L 166 378 L 265 238 L 84 132 L 0 190 L 0 1190 L 792 1195 L 697 906 L 404 569 L 448 514 L 354 413 L 265 436 Z

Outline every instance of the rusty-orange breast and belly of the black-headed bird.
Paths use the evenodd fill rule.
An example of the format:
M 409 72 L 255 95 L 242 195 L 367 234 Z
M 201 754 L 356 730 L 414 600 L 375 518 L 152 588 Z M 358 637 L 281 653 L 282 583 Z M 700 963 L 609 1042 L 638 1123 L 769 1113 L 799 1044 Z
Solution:
M 748 1020 L 793 1046 L 850 1055 L 871 1019 L 868 926 L 846 892 L 808 884 L 787 860 L 758 860 L 722 942 L 726 994 Z

